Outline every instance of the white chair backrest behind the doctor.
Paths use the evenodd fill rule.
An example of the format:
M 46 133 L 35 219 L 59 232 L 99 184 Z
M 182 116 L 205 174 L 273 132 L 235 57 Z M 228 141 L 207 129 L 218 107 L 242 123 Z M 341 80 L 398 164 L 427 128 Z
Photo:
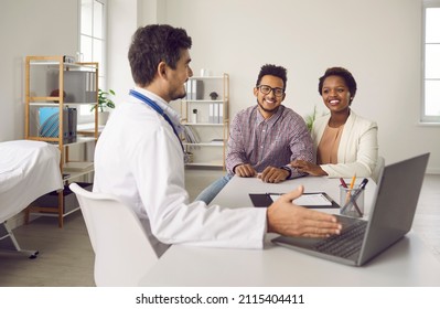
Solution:
M 138 286 L 158 256 L 136 213 L 111 194 L 93 193 L 76 183 L 69 189 L 95 252 L 96 286 Z

